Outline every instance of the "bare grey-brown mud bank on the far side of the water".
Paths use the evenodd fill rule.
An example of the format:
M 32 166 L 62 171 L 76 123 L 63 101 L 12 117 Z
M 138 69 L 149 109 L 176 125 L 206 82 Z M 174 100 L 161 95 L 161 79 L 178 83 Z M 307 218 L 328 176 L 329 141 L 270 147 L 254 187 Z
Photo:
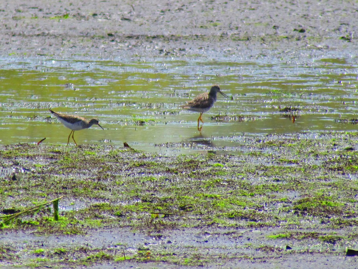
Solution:
M 3 56 L 21 58 L 279 57 L 300 64 L 330 52 L 351 57 L 356 14 L 354 1 L 6 0 L 0 46 Z

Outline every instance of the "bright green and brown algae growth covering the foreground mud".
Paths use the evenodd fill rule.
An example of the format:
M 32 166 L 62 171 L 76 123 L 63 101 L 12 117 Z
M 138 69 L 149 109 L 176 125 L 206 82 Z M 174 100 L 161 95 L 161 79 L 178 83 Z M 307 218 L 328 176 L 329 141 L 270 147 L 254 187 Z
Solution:
M 236 155 L 166 156 L 90 145 L 1 146 L 0 164 L 5 169 L 0 181 L 3 214 L 57 195 L 64 195 L 60 208 L 67 208 L 59 212 L 57 222 L 43 209 L 1 229 L 75 236 L 93 229 L 129 228 L 161 238 L 163 231 L 203 227 L 208 231 L 277 228 L 281 232 L 267 234 L 268 240 L 293 240 L 298 245 L 315 240 L 318 246 L 330 244 L 339 248 L 358 237 L 356 233 L 342 234 L 347 227 L 357 225 L 357 157 L 354 150 L 344 149 L 357 143 L 358 138 L 344 133 L 323 137 L 319 141 L 267 138 L 255 143 L 255 147 L 251 143 L 241 145 L 241 149 L 249 147 L 250 151 Z M 13 168 L 18 177 L 13 177 Z M 21 176 L 16 172 L 20 170 Z M 295 227 L 312 232 L 301 232 Z M 328 232 L 321 232 L 322 229 Z M 272 244 L 267 241 L 254 249 L 281 251 Z M 129 253 L 126 248 L 122 246 L 125 254 L 114 248 L 90 248 L 77 251 L 78 259 L 74 260 L 73 248 L 41 247 L 28 250 L 42 256 L 26 264 L 75 267 L 130 260 L 183 266 L 210 263 L 195 248 L 186 257 L 163 253 L 153 246 L 136 253 Z M 307 250 L 302 246 L 295 253 Z M 21 259 L 23 254 L 3 247 L 1 255 L 11 262 L 15 255 Z M 66 262 L 53 259 L 54 256 L 66 257 Z M 218 257 L 214 258 L 218 262 L 232 259 Z

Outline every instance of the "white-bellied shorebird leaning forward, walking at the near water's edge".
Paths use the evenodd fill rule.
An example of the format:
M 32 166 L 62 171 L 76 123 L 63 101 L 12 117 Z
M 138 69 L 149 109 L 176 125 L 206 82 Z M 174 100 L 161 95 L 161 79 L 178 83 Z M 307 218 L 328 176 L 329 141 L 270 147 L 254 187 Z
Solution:
M 82 129 L 87 129 L 89 127 L 91 127 L 93 124 L 96 124 L 98 126 L 100 126 L 102 128 L 102 126 L 100 125 L 100 122 L 98 121 L 98 119 L 91 119 L 90 121 L 88 121 L 85 118 L 79 117 L 79 116 L 75 116 L 75 115 L 66 115 L 66 114 L 62 114 L 62 113 L 57 113 L 52 111 L 51 109 L 49 109 L 50 112 L 52 114 L 54 114 L 56 116 L 56 118 L 67 128 L 71 129 L 71 133 L 69 133 L 68 136 L 68 140 L 67 140 L 67 145 L 69 143 L 69 137 L 72 134 L 72 139 L 74 141 L 74 143 L 77 146 L 76 141 L 73 138 L 74 135 L 74 131 L 78 131 L 78 130 L 82 130 Z M 104 130 L 102 128 L 102 130 Z

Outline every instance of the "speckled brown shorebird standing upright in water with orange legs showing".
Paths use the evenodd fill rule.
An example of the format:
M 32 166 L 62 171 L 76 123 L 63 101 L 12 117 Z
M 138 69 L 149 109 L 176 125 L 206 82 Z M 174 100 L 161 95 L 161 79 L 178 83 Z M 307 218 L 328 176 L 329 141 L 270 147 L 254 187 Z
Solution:
M 188 109 L 195 112 L 200 112 L 200 116 L 198 118 L 198 128 L 199 128 L 199 121 L 203 122 L 202 115 L 204 112 L 207 112 L 215 103 L 217 93 L 221 93 L 226 98 L 229 98 L 226 94 L 220 91 L 220 87 L 218 85 L 214 85 L 211 87 L 208 93 L 199 94 L 193 100 L 188 102 L 186 105 L 182 105 L 181 107 L 184 109 Z

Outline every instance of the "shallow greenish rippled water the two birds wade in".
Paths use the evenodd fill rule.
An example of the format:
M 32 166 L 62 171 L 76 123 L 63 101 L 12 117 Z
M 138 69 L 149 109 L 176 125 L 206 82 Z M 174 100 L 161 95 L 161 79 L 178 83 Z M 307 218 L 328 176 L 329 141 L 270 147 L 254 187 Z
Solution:
M 243 134 L 314 135 L 357 128 L 339 122 L 357 118 L 355 59 L 229 60 L 0 59 L 0 143 L 36 143 L 46 137 L 43 143 L 66 144 L 70 130 L 50 117 L 48 108 L 100 120 L 105 131 L 98 126 L 76 131 L 78 144 L 127 142 L 140 150 L 174 154 L 236 146 Z M 199 113 L 180 105 L 213 84 L 230 98 L 218 95 L 215 106 L 203 114 L 199 133 Z M 285 107 L 300 110 L 279 111 Z M 210 119 L 218 114 L 244 117 Z

